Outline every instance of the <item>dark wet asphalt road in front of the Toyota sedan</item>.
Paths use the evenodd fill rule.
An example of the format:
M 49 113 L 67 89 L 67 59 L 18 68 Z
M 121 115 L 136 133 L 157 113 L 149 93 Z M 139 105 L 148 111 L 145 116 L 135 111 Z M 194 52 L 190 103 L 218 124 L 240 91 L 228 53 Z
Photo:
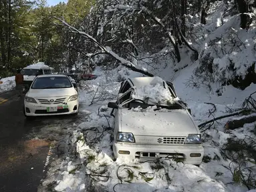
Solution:
M 23 115 L 23 97 L 17 97 L 15 91 L 0 94 L 0 191 L 37 191 L 46 172 L 47 137 L 61 135 L 61 130 L 75 123 L 76 118 L 55 116 L 28 121 Z

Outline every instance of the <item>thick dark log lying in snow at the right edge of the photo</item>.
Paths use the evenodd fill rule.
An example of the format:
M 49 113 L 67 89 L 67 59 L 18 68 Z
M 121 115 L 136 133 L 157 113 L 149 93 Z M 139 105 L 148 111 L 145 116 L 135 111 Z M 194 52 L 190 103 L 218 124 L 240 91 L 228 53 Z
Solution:
M 245 125 L 246 123 L 253 123 L 255 121 L 256 121 L 256 113 L 254 113 L 253 115 L 242 117 L 241 119 L 234 119 L 231 121 L 227 121 L 224 127 L 225 129 L 233 130 L 233 129 L 243 127 L 243 125 Z

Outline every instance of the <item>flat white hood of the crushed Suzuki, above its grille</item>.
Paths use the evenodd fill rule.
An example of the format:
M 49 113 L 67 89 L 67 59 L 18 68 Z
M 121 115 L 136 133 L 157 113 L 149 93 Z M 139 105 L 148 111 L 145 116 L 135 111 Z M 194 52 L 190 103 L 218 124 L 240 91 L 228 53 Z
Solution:
M 120 115 L 118 124 L 121 132 L 130 132 L 134 135 L 157 136 L 187 136 L 200 134 L 190 115 L 185 110 L 160 111 L 132 111 L 118 110 Z

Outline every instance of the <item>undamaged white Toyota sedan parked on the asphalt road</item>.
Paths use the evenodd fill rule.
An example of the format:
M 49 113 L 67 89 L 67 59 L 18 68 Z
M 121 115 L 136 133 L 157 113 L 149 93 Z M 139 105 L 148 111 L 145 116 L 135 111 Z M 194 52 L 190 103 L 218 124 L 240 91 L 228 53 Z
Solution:
M 24 99 L 25 117 L 78 114 L 76 84 L 66 75 L 39 75 Z

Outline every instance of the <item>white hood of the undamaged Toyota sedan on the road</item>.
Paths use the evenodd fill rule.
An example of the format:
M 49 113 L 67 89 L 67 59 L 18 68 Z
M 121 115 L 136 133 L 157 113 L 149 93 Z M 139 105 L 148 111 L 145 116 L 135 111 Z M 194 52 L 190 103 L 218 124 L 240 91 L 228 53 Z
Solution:
M 64 89 L 29 89 L 27 97 L 63 97 L 76 95 L 76 89 L 74 87 Z

